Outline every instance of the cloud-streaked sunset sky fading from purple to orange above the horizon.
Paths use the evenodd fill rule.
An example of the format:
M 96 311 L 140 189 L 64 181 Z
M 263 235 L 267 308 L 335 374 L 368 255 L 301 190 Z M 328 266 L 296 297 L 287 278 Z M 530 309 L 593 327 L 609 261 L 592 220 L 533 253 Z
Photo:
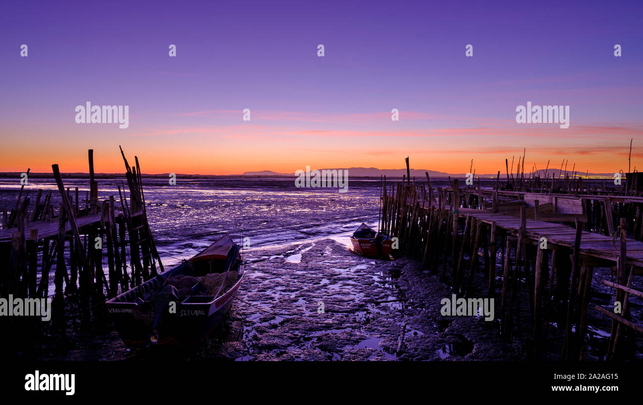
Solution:
M 643 141 L 643 3 L 495 3 L 3 2 L 0 170 L 86 171 L 94 148 L 97 171 L 120 171 L 118 144 L 148 172 L 399 168 L 411 155 L 494 173 L 523 146 L 538 168 L 626 169 L 629 139 Z M 86 101 L 129 105 L 129 128 L 78 125 Z M 570 105 L 570 128 L 517 124 L 527 101 Z

